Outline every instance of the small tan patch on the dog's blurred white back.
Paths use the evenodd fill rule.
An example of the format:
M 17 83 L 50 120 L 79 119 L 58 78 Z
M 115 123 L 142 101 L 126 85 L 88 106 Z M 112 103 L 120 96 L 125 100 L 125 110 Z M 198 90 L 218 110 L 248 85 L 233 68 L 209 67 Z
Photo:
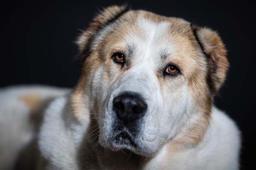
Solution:
M 33 116 L 39 105 L 40 95 L 38 93 L 29 93 L 19 96 L 18 99 L 30 108 L 31 116 Z

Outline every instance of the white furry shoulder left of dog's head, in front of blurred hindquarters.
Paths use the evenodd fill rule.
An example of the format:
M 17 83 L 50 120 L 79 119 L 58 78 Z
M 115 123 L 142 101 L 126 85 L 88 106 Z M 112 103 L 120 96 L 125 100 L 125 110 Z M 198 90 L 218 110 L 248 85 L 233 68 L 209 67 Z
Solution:
M 45 110 L 38 146 L 48 168 L 78 169 L 76 159 L 89 126 L 88 120 L 79 121 L 72 114 L 70 95 L 54 99 Z M 84 113 L 84 115 L 89 113 Z

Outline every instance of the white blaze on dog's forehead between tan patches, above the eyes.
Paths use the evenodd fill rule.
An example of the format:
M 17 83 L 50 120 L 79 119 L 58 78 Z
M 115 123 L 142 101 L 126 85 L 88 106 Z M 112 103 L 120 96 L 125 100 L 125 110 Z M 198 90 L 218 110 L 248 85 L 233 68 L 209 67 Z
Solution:
M 126 37 L 125 42 L 136 44 L 133 60 L 138 58 L 139 61 L 135 61 L 135 63 L 145 61 L 159 62 L 164 53 L 173 51 L 169 42 L 168 26 L 169 23 L 164 21 L 154 22 L 145 18 L 137 19 L 137 32 L 128 33 L 128 38 Z M 139 57 L 136 57 L 136 55 L 139 55 Z

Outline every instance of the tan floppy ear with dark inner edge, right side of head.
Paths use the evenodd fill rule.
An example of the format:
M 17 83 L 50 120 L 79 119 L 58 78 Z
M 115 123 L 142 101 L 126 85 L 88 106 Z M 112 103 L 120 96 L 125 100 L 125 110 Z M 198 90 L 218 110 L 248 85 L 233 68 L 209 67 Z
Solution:
M 229 62 L 226 57 L 227 50 L 216 31 L 196 26 L 193 27 L 193 30 L 207 56 L 209 64 L 208 82 L 211 94 L 214 95 L 225 81 L 229 68 Z

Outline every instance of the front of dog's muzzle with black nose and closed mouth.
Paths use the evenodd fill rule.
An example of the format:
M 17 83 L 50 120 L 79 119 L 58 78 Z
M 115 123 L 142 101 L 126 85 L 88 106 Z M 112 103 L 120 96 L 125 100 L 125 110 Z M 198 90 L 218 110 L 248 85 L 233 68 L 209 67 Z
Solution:
M 100 119 L 102 146 L 115 151 L 127 149 L 140 155 L 151 155 L 157 150 L 156 129 L 146 126 L 151 117 L 149 100 L 144 97 L 134 91 L 119 91 L 113 95 L 109 100 L 110 110 Z

